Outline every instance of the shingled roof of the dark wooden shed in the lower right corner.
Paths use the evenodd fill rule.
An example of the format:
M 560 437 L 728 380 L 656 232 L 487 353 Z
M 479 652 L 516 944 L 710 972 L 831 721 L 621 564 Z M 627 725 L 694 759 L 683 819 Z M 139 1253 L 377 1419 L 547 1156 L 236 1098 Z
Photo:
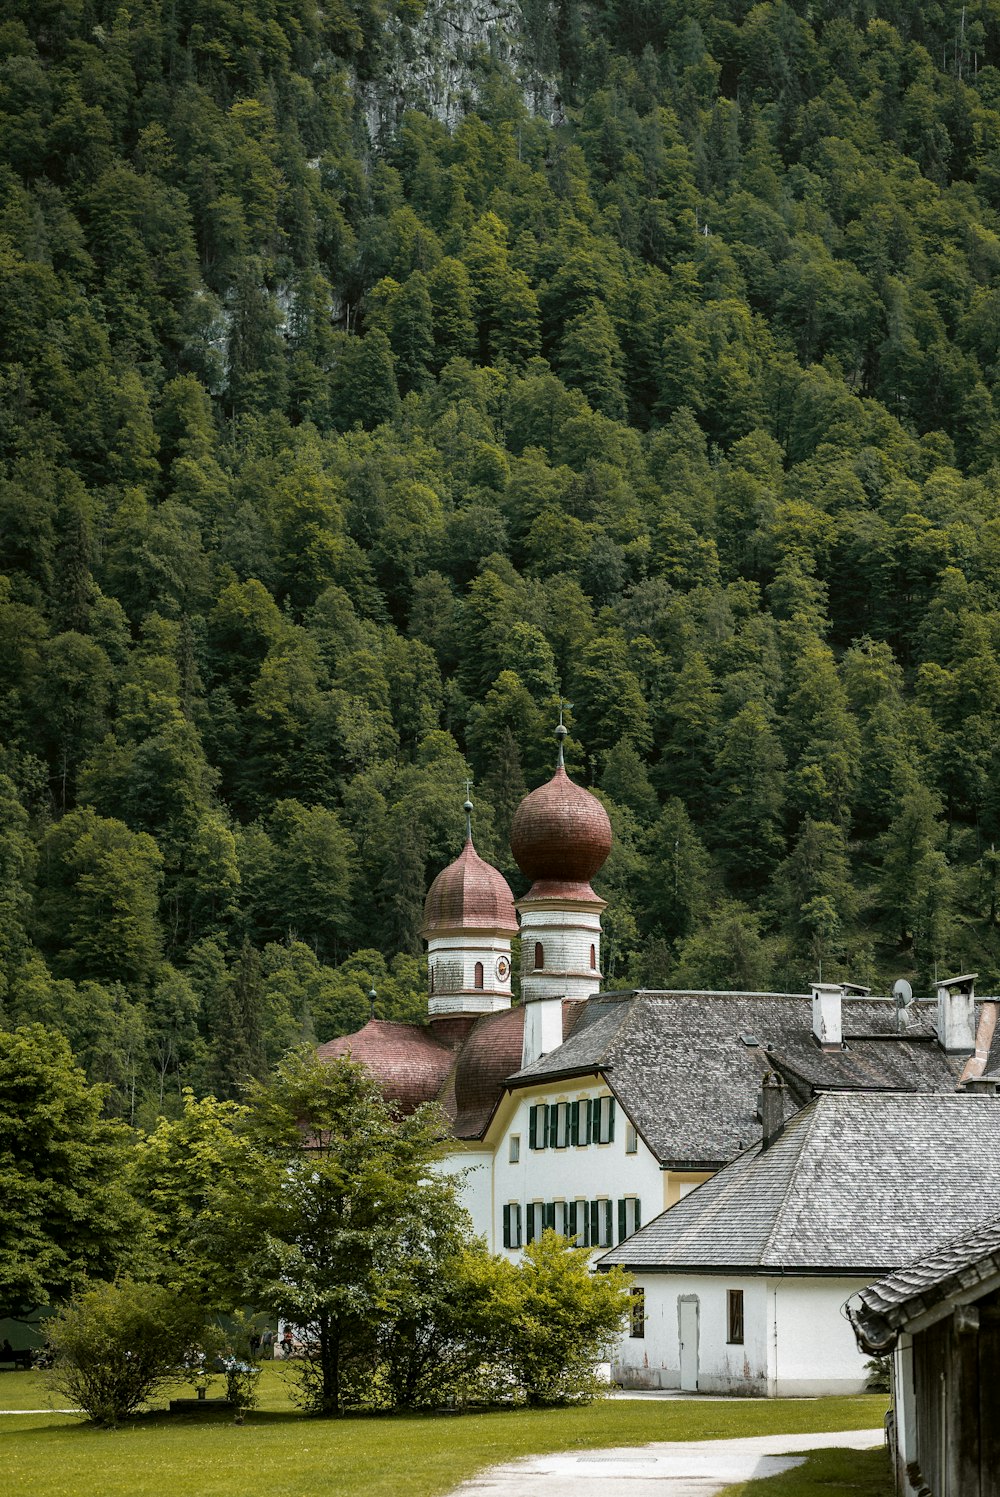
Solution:
M 946 1314 L 951 1302 L 975 1299 L 999 1278 L 1000 1216 L 991 1216 L 862 1289 L 850 1313 L 855 1335 L 865 1352 L 888 1352 L 916 1319 L 930 1325 L 936 1311 Z

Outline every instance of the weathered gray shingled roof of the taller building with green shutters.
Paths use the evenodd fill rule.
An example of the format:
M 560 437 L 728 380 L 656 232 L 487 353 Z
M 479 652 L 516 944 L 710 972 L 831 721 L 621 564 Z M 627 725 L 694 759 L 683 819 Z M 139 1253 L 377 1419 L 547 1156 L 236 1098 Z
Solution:
M 784 1076 L 793 1111 L 820 1088 L 952 1091 L 964 1064 L 927 1024 L 897 1036 L 895 1010 L 877 1000 L 844 1003 L 838 1051 L 813 1039 L 805 994 L 639 991 L 579 1009 L 566 1042 L 507 1084 L 603 1073 L 653 1154 L 674 1168 L 717 1169 L 760 1136 L 765 1070 Z

